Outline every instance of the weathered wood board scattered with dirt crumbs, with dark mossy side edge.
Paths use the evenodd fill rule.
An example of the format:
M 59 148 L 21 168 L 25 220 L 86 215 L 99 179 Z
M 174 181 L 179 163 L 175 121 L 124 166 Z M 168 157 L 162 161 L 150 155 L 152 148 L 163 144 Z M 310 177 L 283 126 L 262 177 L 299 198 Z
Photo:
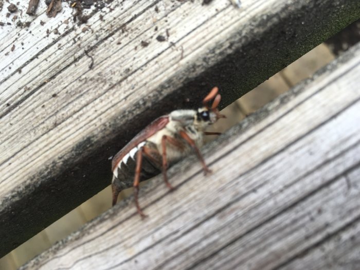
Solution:
M 109 158 L 155 117 L 214 85 L 225 106 L 360 17 L 357 0 L 242 3 L 113 1 L 87 26 L 38 8 L 2 26 L 0 256 L 108 185 Z

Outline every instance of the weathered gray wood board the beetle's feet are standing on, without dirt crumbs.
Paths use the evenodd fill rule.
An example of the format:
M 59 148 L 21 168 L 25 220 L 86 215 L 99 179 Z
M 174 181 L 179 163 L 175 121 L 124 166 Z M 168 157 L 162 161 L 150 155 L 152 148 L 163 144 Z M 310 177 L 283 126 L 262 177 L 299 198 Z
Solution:
M 356 50 L 355 50 L 356 49 Z M 360 44 L 22 269 L 355 269 Z

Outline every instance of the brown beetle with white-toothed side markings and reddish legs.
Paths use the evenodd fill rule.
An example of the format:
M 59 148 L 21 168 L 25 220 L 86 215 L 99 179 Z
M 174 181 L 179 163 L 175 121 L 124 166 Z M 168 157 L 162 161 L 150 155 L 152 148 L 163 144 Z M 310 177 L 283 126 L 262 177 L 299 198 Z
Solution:
M 197 110 L 175 110 L 168 115 L 155 119 L 138 133 L 112 160 L 113 206 L 121 190 L 131 186 L 133 180 L 134 199 L 137 212 L 142 212 L 139 201 L 139 183 L 163 171 L 165 184 L 168 182 L 167 169 L 178 160 L 195 151 L 204 173 L 211 172 L 206 166 L 199 148 L 203 145 L 204 135 L 219 135 L 205 129 L 219 118 L 225 118 L 218 110 L 221 100 L 218 87 L 213 87 L 203 100 L 203 107 Z M 213 100 L 212 106 L 209 102 Z

